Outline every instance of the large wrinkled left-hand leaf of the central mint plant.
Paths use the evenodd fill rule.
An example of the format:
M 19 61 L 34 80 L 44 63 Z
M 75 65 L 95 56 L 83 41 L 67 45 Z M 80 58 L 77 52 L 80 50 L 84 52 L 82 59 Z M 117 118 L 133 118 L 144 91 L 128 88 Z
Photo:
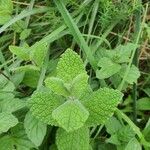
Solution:
M 50 125 L 57 125 L 57 122 L 52 117 L 52 111 L 63 103 L 62 97 L 49 91 L 35 92 L 29 100 L 32 115 Z

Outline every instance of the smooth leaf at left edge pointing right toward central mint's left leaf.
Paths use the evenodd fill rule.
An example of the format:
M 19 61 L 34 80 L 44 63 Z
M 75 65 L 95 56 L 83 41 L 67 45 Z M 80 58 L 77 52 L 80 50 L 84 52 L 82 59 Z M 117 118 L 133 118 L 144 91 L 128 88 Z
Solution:
M 7 98 L 0 102 L 2 112 L 13 113 L 26 106 L 26 102 L 18 98 Z

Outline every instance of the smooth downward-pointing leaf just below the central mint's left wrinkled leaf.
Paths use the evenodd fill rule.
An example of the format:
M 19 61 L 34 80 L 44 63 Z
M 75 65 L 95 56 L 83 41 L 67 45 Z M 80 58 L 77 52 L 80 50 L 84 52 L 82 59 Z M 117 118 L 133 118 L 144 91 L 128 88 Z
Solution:
M 46 124 L 43 124 L 28 112 L 25 116 L 24 127 L 28 138 L 36 145 L 40 146 L 46 135 Z

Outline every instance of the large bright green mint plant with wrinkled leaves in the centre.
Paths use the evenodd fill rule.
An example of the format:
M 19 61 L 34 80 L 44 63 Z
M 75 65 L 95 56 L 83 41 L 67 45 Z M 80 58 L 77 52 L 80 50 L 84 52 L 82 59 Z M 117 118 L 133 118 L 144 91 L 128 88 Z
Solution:
M 56 144 L 60 150 L 69 150 L 73 145 L 88 150 L 89 127 L 104 124 L 123 96 L 109 88 L 92 91 L 84 64 L 71 49 L 62 54 L 56 77 L 47 77 L 45 86 L 34 92 L 28 103 L 35 118 L 59 127 Z

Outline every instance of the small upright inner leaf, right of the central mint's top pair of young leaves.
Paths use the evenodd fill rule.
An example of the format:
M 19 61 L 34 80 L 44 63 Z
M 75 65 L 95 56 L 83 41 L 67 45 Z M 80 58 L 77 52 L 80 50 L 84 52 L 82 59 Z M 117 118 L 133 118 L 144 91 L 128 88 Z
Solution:
M 82 96 L 85 90 L 88 88 L 88 75 L 86 73 L 79 74 L 76 76 L 71 83 L 71 94 L 76 98 Z

